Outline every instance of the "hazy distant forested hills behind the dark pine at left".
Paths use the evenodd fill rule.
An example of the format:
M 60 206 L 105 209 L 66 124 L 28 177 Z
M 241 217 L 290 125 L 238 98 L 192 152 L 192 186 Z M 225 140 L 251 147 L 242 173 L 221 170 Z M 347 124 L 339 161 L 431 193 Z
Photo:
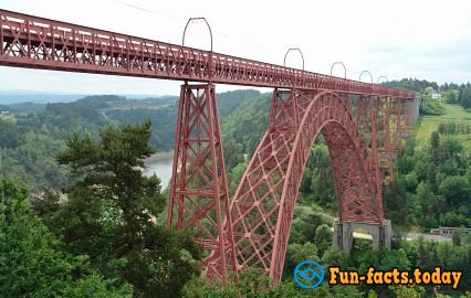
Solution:
M 258 95 L 257 91 L 219 94 L 222 121 Z M 25 111 L 27 104 L 4 105 L 10 114 L 0 116 L 0 168 L 6 177 L 20 178 L 34 192 L 50 188 L 59 190 L 71 181 L 67 167 L 59 166 L 54 159 L 65 148 L 69 136 L 73 132 L 97 136 L 107 125 L 142 123 L 146 118 L 153 124 L 150 146 L 157 151 L 172 150 L 177 100 L 175 96 L 143 99 L 88 96 L 72 103 L 32 105 L 32 110 L 36 111 Z

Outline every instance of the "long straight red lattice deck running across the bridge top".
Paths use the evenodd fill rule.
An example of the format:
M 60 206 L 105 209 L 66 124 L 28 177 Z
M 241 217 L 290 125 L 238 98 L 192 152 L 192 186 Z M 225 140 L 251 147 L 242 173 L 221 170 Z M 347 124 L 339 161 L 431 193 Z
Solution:
M 0 40 L 4 66 L 415 97 L 399 89 L 7 10 L 0 10 Z

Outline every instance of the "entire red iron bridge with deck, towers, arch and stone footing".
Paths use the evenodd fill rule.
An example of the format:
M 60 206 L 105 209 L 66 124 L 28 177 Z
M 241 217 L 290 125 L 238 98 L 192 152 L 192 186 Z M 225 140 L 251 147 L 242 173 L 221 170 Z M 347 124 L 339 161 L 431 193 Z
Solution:
M 208 277 L 259 267 L 281 279 L 301 178 L 320 134 L 334 172 L 334 245 L 355 227 L 390 245 L 381 188 L 418 117 L 415 93 L 0 10 L 0 65 L 181 81 L 167 225 L 197 228 Z M 270 119 L 228 195 L 216 84 L 273 88 Z

